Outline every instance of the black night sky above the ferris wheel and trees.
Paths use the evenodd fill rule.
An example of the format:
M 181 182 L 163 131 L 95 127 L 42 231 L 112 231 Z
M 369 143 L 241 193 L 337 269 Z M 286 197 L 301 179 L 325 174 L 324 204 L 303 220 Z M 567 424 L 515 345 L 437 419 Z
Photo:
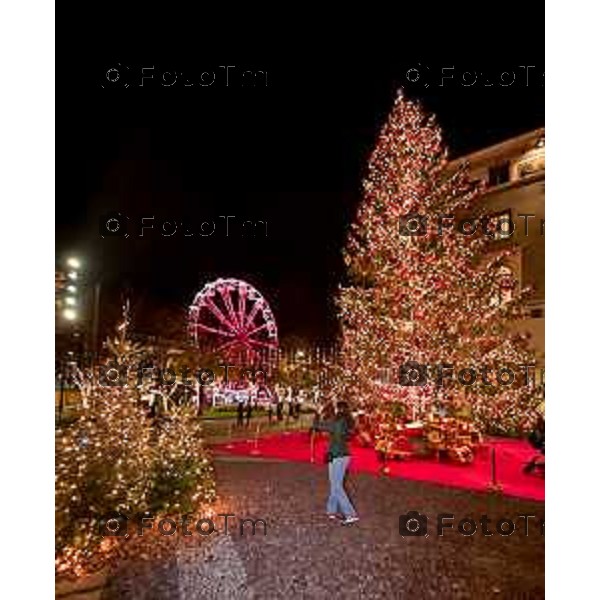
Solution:
M 84 256 L 90 277 L 102 277 L 104 302 L 127 289 L 140 312 L 185 307 L 207 281 L 240 277 L 267 297 L 280 335 L 326 339 L 335 332 L 330 298 L 343 275 L 345 232 L 398 87 L 437 114 L 453 155 L 544 125 L 541 26 L 498 26 L 460 50 L 400 29 L 385 45 L 317 31 L 278 38 L 257 50 L 204 35 L 193 54 L 171 48 L 168 57 L 152 44 L 147 52 L 81 50 L 82 78 L 62 105 L 57 257 Z M 517 47 L 510 55 L 508 41 Z M 129 88 L 104 79 L 118 63 L 128 67 L 121 82 Z M 229 86 L 218 68 L 226 64 L 236 67 Z M 141 67 L 152 65 L 155 79 L 139 87 Z M 529 85 L 519 65 L 535 66 Z M 440 87 L 441 68 L 451 66 L 454 80 Z M 413 67 L 422 73 L 416 83 L 407 79 Z M 242 87 L 246 69 L 266 70 L 268 86 Z M 184 87 L 180 76 L 161 87 L 167 70 L 193 82 L 203 71 L 217 78 Z M 479 73 L 471 87 L 461 85 L 465 71 Z M 502 71 L 515 72 L 512 85 L 498 85 Z M 100 216 L 115 210 L 130 217 L 131 237 L 100 236 Z M 140 217 L 152 215 L 155 230 L 136 237 Z M 235 215 L 229 237 L 218 215 Z M 267 237 L 242 237 L 245 219 L 267 220 Z M 206 238 L 181 230 L 167 238 L 163 220 L 186 220 L 194 231 L 214 220 L 217 228 Z

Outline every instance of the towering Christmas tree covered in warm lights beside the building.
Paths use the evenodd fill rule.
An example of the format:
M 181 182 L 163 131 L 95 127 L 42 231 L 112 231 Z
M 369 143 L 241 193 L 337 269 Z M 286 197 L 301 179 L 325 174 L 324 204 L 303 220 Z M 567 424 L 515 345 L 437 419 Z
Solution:
M 467 165 L 449 169 L 434 117 L 400 93 L 371 155 L 344 252 L 341 382 L 354 402 L 380 408 L 400 401 L 409 416 L 422 416 L 462 399 L 472 418 L 494 431 L 519 430 L 536 418 L 533 370 L 525 385 L 524 366 L 534 354 L 527 336 L 511 329 L 524 315 L 527 290 L 507 282 L 502 268 L 514 248 L 498 249 L 498 224 L 482 213 L 482 192 Z M 474 215 L 477 221 L 460 225 Z M 411 362 L 428 367 L 403 368 Z M 453 370 L 442 371 L 443 364 Z M 468 368 L 476 371 L 472 383 L 467 371 L 459 380 Z M 515 379 L 507 384 L 510 373 Z M 424 385 L 410 385 L 425 374 Z

